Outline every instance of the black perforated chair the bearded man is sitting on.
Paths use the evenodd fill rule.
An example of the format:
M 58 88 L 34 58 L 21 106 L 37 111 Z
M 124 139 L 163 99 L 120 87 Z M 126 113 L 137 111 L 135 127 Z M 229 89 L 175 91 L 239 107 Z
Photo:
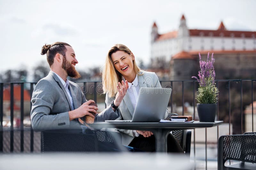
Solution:
M 125 151 L 118 132 L 86 130 L 41 132 L 41 152 L 116 152 Z

